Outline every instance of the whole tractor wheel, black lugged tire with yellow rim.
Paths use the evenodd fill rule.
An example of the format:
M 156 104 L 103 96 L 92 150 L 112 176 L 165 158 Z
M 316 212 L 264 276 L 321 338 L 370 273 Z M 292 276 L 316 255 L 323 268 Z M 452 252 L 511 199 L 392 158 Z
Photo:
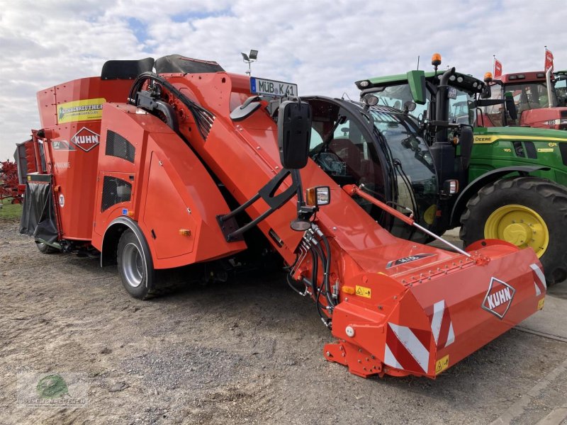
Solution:
M 524 220 L 525 217 L 533 220 Z M 567 278 L 566 223 L 566 188 L 547 179 L 513 177 L 489 183 L 468 200 L 459 237 L 465 246 L 478 239 L 496 237 L 495 233 L 500 235 L 497 239 L 510 239 L 507 242 L 520 248 L 532 241 L 544 266 L 547 284 L 553 285 Z M 542 230 L 532 234 L 535 229 Z M 518 234 L 522 237 L 515 236 Z M 533 243 L 541 241 L 542 236 L 544 243 Z

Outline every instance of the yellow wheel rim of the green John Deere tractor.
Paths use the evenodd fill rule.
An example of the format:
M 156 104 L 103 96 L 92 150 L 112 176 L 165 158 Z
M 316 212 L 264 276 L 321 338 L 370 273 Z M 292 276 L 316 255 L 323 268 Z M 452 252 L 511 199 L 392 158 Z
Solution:
M 532 248 L 538 258 L 549 245 L 545 220 L 525 205 L 505 205 L 488 216 L 484 225 L 486 239 L 501 239 L 520 249 Z

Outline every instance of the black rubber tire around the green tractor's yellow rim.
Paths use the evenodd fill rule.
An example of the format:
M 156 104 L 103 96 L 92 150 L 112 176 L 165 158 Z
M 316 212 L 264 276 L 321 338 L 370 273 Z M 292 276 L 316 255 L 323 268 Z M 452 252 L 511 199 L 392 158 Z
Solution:
M 537 212 L 548 229 L 549 242 L 539 261 L 548 285 L 567 278 L 567 189 L 537 177 L 514 177 L 490 183 L 473 196 L 461 216 L 459 237 L 465 246 L 485 238 L 488 217 L 506 205 Z

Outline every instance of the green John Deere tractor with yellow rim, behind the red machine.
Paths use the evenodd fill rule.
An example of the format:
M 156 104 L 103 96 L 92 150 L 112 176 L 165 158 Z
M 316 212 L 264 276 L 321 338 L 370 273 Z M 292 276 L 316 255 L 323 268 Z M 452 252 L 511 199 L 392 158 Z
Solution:
M 567 278 L 567 132 L 478 126 L 481 106 L 499 103 L 515 119 L 513 98 L 506 94 L 504 100 L 489 99 L 483 81 L 454 68 L 356 84 L 364 103 L 413 115 L 437 169 L 470 155 L 466 178 L 457 182 L 451 214 L 436 217 L 439 231 L 460 226 L 465 245 L 485 238 L 530 247 L 539 256 L 548 283 Z M 470 147 L 459 145 L 459 128 L 464 126 L 473 128 Z M 450 148 L 442 140 L 449 140 Z M 468 152 L 461 155 L 463 149 Z M 449 181 L 446 176 L 437 178 L 439 184 Z

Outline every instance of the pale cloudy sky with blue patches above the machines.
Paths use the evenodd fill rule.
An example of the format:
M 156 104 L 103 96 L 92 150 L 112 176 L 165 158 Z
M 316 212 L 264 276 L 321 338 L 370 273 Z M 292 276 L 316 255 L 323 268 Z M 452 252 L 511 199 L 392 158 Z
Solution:
M 180 54 L 298 84 L 299 94 L 357 97 L 353 81 L 443 67 L 481 77 L 567 69 L 564 1 L 0 0 L 0 159 L 39 126 L 35 93 L 99 75 L 106 60 Z

